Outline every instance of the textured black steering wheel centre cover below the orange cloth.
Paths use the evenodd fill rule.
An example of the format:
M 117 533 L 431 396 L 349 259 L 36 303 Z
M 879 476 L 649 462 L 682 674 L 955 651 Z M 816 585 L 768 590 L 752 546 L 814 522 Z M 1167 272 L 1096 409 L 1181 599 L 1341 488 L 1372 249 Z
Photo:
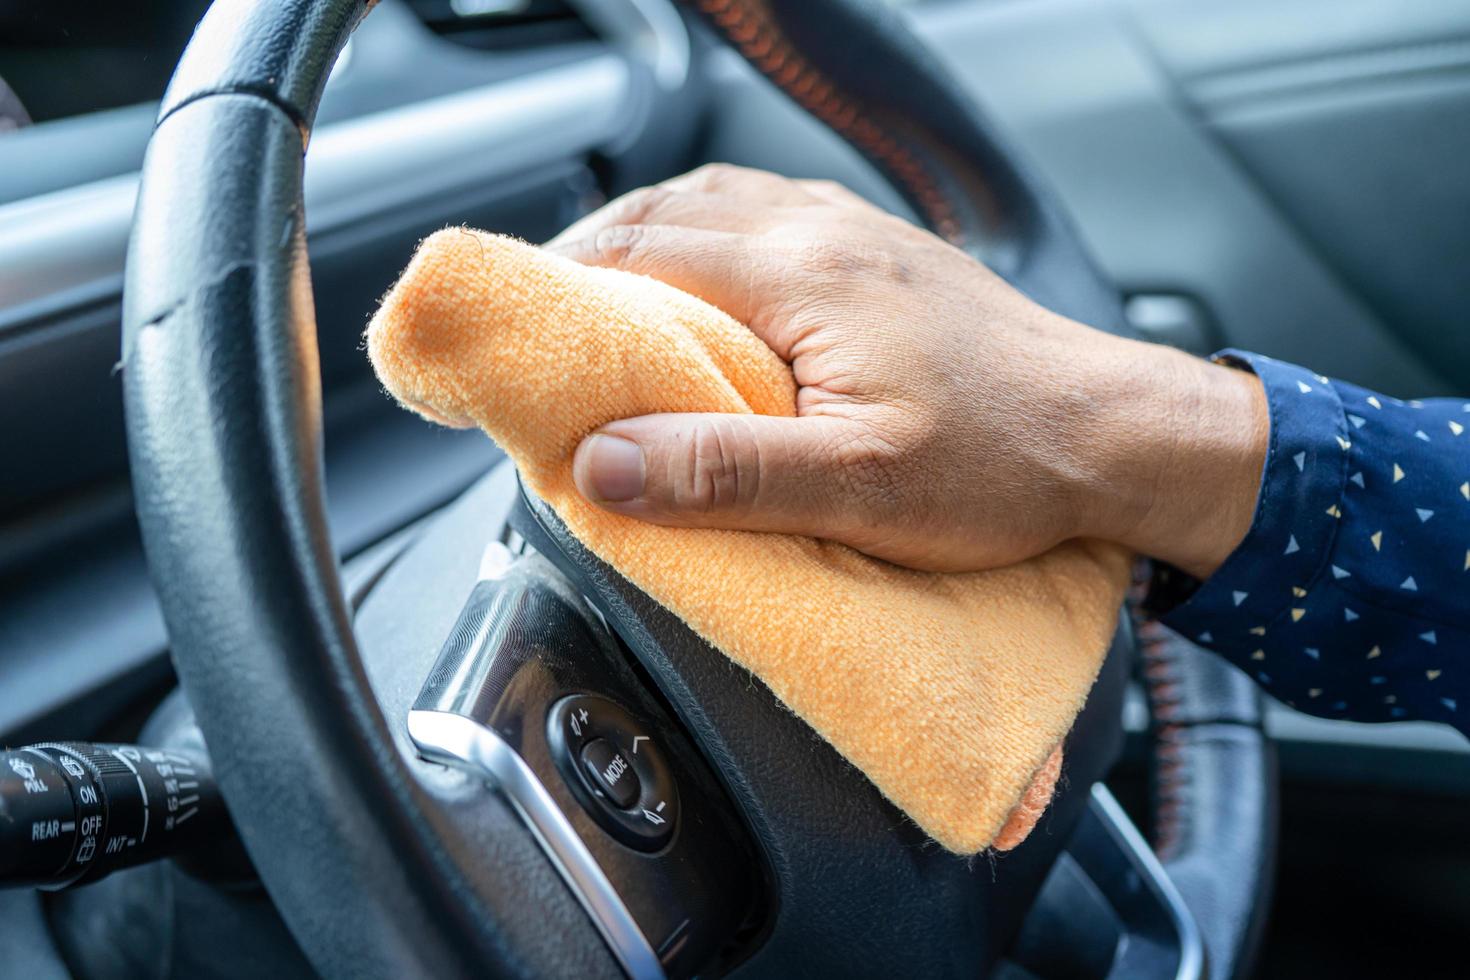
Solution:
M 1126 630 L 1067 739 L 1063 790 L 1047 815 L 1016 851 L 970 860 L 928 840 L 757 677 L 582 548 L 544 504 L 523 500 L 512 525 L 603 611 L 703 746 L 766 851 L 778 912 L 742 970 L 983 974 L 1088 805 L 1088 788 L 1117 757 Z

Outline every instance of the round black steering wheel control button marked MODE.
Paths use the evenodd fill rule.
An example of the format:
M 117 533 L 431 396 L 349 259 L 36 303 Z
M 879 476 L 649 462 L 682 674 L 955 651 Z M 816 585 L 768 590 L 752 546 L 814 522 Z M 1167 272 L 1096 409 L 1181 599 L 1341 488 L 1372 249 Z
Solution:
M 572 695 L 551 707 L 547 742 L 597 826 L 638 851 L 673 839 L 679 790 L 653 729 L 607 698 Z

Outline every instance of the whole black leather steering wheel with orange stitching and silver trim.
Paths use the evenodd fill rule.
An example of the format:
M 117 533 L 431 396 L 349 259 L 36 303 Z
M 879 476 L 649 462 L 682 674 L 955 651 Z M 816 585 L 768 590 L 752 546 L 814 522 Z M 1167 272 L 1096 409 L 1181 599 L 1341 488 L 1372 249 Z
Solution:
M 516 790 L 504 773 L 492 786 L 422 758 L 407 729 L 423 707 L 415 692 L 495 533 L 482 522 L 500 504 L 487 501 L 514 498 L 514 486 L 500 479 L 451 508 L 354 633 L 323 504 L 301 173 L 328 72 L 370 6 L 215 3 L 148 145 L 123 309 L 132 480 L 172 655 L 240 835 L 312 964 L 353 977 L 975 976 L 1025 946 L 1026 912 L 1057 868 L 1107 864 L 1088 852 L 1089 820 L 1107 823 L 1122 851 L 1136 839 L 1094 790 L 1122 743 L 1135 652 L 1126 624 L 1069 739 L 1050 815 L 1017 851 L 966 861 L 928 843 L 769 691 L 526 498 L 510 520 L 538 554 L 517 574 L 542 598 L 517 608 L 545 614 L 528 620 L 544 642 L 523 651 L 526 663 L 545 655 L 557 617 L 609 664 L 625 658 L 600 676 L 672 745 L 684 829 L 660 857 L 607 837 L 556 773 L 526 770 L 537 785 Z M 1126 329 L 1114 289 L 1038 179 L 900 18 L 858 0 L 691 6 L 866 154 L 935 232 L 1038 301 Z M 1160 874 L 1136 846 L 1108 867 L 1135 902 L 1139 889 L 1164 899 L 1176 940 L 1197 934 L 1192 908 L 1211 973 L 1233 976 L 1250 961 L 1270 879 L 1258 704 L 1197 651 L 1160 649 L 1147 671 L 1163 760 L 1155 823 L 1179 873 Z M 572 667 L 542 679 L 564 677 L 557 670 Z M 600 691 L 597 677 L 578 677 L 578 691 Z M 542 717 L 517 716 L 529 763 L 556 749 L 538 735 Z M 528 818 L 523 793 L 542 790 L 581 842 L 548 842 Z M 732 849 L 678 851 L 695 846 L 700 827 Z M 612 890 L 588 893 L 564 867 L 584 852 L 601 862 L 592 884 Z M 682 871 L 663 876 L 676 852 Z M 716 934 L 722 889 L 750 902 Z M 692 905 L 670 911 L 676 899 Z M 629 934 L 613 934 L 613 912 Z M 670 914 L 678 924 L 656 934 L 650 917 Z M 707 952 L 698 962 L 695 946 Z M 1198 974 L 1198 949 L 1157 962 Z

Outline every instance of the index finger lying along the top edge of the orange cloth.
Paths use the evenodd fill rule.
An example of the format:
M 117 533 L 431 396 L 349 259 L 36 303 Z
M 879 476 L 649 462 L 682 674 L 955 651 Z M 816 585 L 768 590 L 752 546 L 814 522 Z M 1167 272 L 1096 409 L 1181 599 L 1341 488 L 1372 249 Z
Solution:
M 587 266 L 651 276 L 700 297 L 748 325 L 778 354 L 770 297 L 792 270 L 748 235 L 666 225 L 613 225 L 591 238 L 548 242 L 550 251 Z M 759 285 L 759 288 L 757 288 Z

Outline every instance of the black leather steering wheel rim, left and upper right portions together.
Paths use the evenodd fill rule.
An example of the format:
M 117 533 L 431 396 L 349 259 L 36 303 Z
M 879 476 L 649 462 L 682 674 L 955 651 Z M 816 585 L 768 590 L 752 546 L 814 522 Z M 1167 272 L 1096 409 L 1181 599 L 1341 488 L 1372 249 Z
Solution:
M 537 971 L 547 961 L 535 939 L 510 924 L 522 896 L 466 877 L 466 855 L 400 755 L 326 529 L 301 160 L 329 68 L 370 6 L 220 0 L 179 63 L 128 251 L 137 510 L 225 796 L 318 967 Z M 854 0 L 695 6 L 778 82 L 794 75 L 795 97 L 869 153 L 933 229 L 1053 309 L 1123 329 L 1114 291 L 1039 182 L 894 15 Z M 766 41 L 785 60 L 767 63 Z M 288 829 L 287 813 L 318 818 Z M 306 852 L 341 860 L 301 880 L 290 871 Z M 345 895 L 372 895 L 370 917 L 320 909 Z M 564 902 L 548 908 L 566 915 Z

